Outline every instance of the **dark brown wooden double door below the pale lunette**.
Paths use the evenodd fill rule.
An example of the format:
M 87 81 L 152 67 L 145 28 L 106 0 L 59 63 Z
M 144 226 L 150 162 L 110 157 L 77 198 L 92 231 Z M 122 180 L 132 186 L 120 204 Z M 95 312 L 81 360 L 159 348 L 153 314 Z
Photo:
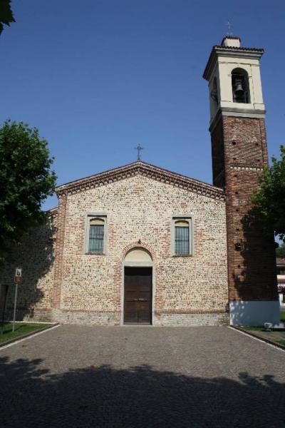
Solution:
M 125 267 L 124 324 L 152 323 L 152 267 Z

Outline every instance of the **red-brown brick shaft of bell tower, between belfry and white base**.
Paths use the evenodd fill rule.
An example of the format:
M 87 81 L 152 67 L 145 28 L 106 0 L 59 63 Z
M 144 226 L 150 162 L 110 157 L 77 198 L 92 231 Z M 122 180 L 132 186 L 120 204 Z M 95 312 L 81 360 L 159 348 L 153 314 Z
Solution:
M 251 202 L 267 165 L 264 120 L 221 116 L 212 152 L 214 185 L 226 192 L 229 300 L 276 300 L 273 234 L 264 235 Z

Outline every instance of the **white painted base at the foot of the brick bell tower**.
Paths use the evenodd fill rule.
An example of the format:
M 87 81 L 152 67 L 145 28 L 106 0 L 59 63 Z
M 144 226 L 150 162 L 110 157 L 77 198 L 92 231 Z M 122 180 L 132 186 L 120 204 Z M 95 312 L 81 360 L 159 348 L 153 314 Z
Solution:
M 242 300 L 229 302 L 230 325 L 279 324 L 279 300 Z

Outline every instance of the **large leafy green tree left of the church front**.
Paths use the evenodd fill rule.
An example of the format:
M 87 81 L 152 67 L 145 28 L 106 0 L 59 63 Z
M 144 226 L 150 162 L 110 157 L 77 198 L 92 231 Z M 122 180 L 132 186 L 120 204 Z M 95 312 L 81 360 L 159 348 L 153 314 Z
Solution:
M 47 220 L 41 203 L 56 185 L 47 144 L 25 123 L 0 128 L 0 265 L 28 230 Z

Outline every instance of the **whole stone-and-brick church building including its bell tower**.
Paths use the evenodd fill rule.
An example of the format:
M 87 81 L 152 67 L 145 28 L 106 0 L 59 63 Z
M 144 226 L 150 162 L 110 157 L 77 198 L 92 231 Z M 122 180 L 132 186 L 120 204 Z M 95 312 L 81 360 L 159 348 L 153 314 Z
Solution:
M 16 250 L 18 319 L 278 322 L 274 240 L 251 203 L 267 163 L 262 53 L 226 37 L 209 57 L 214 185 L 137 161 L 56 189 L 50 222 Z

